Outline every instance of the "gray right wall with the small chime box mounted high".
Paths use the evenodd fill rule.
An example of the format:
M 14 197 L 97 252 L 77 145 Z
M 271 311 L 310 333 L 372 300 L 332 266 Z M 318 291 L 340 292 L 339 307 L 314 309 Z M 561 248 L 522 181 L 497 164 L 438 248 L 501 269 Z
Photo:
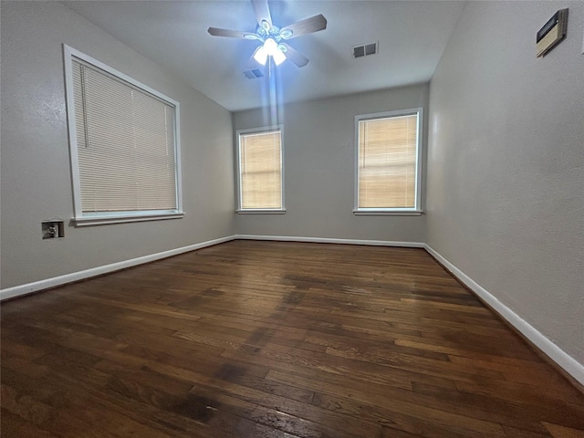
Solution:
M 568 38 L 535 35 L 569 7 Z M 428 244 L 584 363 L 581 2 L 469 2 L 431 82 Z

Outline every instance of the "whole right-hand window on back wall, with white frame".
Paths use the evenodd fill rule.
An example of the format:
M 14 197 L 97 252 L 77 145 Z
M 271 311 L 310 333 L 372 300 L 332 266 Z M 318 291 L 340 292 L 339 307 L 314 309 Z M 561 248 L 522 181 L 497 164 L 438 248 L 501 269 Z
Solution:
M 355 118 L 355 214 L 421 214 L 422 109 Z

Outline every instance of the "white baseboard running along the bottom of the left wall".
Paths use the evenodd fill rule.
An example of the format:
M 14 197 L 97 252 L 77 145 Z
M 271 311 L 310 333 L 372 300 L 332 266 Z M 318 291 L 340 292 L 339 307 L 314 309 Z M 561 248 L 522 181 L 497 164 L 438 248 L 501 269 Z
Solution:
M 144 255 L 137 258 L 132 258 L 130 260 L 124 260 L 118 263 L 112 263 L 110 265 L 92 267 L 91 269 L 86 269 L 84 271 L 72 272 L 71 274 L 66 274 L 64 276 L 55 276 L 52 278 L 47 278 L 45 280 L 35 281 L 33 283 L 26 283 L 25 285 L 8 287 L 0 290 L 0 301 L 7 298 L 20 297 L 22 295 L 30 294 L 43 289 L 48 289 L 49 287 L 62 286 L 67 283 L 72 283 L 74 281 L 83 280 L 91 276 L 101 276 L 103 274 L 108 274 L 110 272 L 119 271 L 120 269 L 125 269 L 131 266 L 142 265 L 144 263 L 153 262 L 155 260 L 160 260 L 162 258 L 171 257 L 172 255 L 179 255 L 187 253 L 189 251 L 194 251 L 197 249 L 204 248 L 205 246 L 212 246 L 217 244 L 223 244 L 224 242 L 229 242 L 237 237 L 235 235 L 230 235 L 227 237 L 222 237 L 219 239 L 209 240 L 207 242 L 202 242 L 200 244 L 183 246 L 180 248 L 171 249 L 168 251 L 162 251 L 162 253 L 156 253 L 151 255 Z

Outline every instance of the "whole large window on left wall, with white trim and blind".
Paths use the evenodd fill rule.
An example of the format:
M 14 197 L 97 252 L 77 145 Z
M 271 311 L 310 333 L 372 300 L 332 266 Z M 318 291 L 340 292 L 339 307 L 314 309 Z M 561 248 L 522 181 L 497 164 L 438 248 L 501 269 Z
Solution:
M 182 217 L 179 103 L 64 51 L 76 224 Z

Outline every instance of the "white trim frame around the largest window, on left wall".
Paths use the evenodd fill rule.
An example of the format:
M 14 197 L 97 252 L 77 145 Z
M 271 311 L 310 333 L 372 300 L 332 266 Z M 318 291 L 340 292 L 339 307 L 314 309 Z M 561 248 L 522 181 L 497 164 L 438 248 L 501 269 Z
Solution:
M 78 51 L 68 45 L 63 45 L 63 55 L 65 63 L 65 94 L 67 102 L 67 119 L 69 135 L 69 154 L 71 164 L 71 177 L 73 183 L 73 203 L 75 217 L 73 222 L 77 226 L 96 225 L 96 224 L 119 224 L 126 222 L 143 222 L 158 219 L 177 219 L 184 216 L 183 212 L 183 192 L 182 192 L 182 172 L 181 172 L 181 105 L 174 99 L 165 96 L 155 89 L 151 89 L 140 81 L 130 78 L 130 76 L 121 73 L 115 68 L 102 63 L 101 61 L 89 57 L 89 55 Z M 73 57 L 77 57 L 88 64 L 100 68 L 116 78 L 120 78 L 131 85 L 142 89 L 159 99 L 165 100 L 174 107 L 174 161 L 176 169 L 176 206 L 175 210 L 168 211 L 140 211 L 140 212 L 112 212 L 84 214 L 81 206 L 81 182 L 78 167 L 77 151 L 77 126 L 75 121 L 75 100 L 73 96 Z

